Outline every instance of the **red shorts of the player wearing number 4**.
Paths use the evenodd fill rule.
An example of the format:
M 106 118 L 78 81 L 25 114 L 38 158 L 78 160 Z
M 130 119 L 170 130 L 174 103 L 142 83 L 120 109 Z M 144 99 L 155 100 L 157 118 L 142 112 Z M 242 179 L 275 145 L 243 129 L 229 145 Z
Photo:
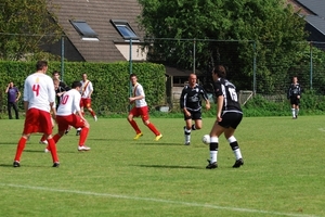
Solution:
M 25 118 L 24 135 L 43 132 L 52 135 L 52 120 L 49 112 L 29 108 Z

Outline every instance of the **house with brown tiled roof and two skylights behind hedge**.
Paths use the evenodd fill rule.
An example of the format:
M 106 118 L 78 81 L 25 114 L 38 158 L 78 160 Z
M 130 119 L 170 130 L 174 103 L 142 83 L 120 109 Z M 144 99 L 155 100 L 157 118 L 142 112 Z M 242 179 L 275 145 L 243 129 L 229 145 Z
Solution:
M 54 13 L 63 28 L 64 58 L 68 61 L 116 62 L 146 60 L 139 38 L 143 31 L 136 23 L 141 13 L 136 0 L 55 0 Z M 44 48 L 61 55 L 61 41 Z

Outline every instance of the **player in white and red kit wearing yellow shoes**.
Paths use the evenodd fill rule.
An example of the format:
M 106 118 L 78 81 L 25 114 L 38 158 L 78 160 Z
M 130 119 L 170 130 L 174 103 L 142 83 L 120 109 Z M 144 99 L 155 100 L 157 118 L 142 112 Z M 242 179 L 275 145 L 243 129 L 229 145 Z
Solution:
M 145 94 L 142 85 L 138 82 L 138 77 L 135 74 L 130 75 L 130 81 L 132 84 L 132 97 L 129 98 L 129 102 L 134 104 L 133 108 L 129 112 L 128 122 L 135 130 L 136 136 L 133 138 L 138 140 L 143 136 L 138 124 L 134 122 L 133 117 L 141 116 L 142 122 L 145 126 L 147 126 L 155 135 L 155 141 L 158 141 L 162 138 L 162 135 L 156 129 L 154 124 L 150 122 L 147 103 L 145 101 Z

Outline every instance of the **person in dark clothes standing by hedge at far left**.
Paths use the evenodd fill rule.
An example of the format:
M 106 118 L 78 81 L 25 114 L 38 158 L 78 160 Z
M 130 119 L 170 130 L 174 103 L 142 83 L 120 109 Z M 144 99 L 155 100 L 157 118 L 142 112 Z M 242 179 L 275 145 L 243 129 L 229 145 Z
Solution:
M 5 93 L 8 94 L 8 115 L 9 115 L 9 119 L 12 119 L 11 107 L 13 107 L 14 111 L 15 111 L 16 119 L 20 119 L 17 102 L 18 102 L 22 93 L 20 92 L 18 88 L 16 88 L 14 86 L 13 82 L 8 84 L 8 87 L 5 89 Z

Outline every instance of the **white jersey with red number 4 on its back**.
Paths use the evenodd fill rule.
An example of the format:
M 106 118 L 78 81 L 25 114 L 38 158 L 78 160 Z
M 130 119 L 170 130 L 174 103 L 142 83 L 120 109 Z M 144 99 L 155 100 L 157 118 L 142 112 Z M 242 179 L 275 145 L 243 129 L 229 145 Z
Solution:
M 29 75 L 24 84 L 24 101 L 31 107 L 50 112 L 50 103 L 55 102 L 53 80 L 43 73 Z

